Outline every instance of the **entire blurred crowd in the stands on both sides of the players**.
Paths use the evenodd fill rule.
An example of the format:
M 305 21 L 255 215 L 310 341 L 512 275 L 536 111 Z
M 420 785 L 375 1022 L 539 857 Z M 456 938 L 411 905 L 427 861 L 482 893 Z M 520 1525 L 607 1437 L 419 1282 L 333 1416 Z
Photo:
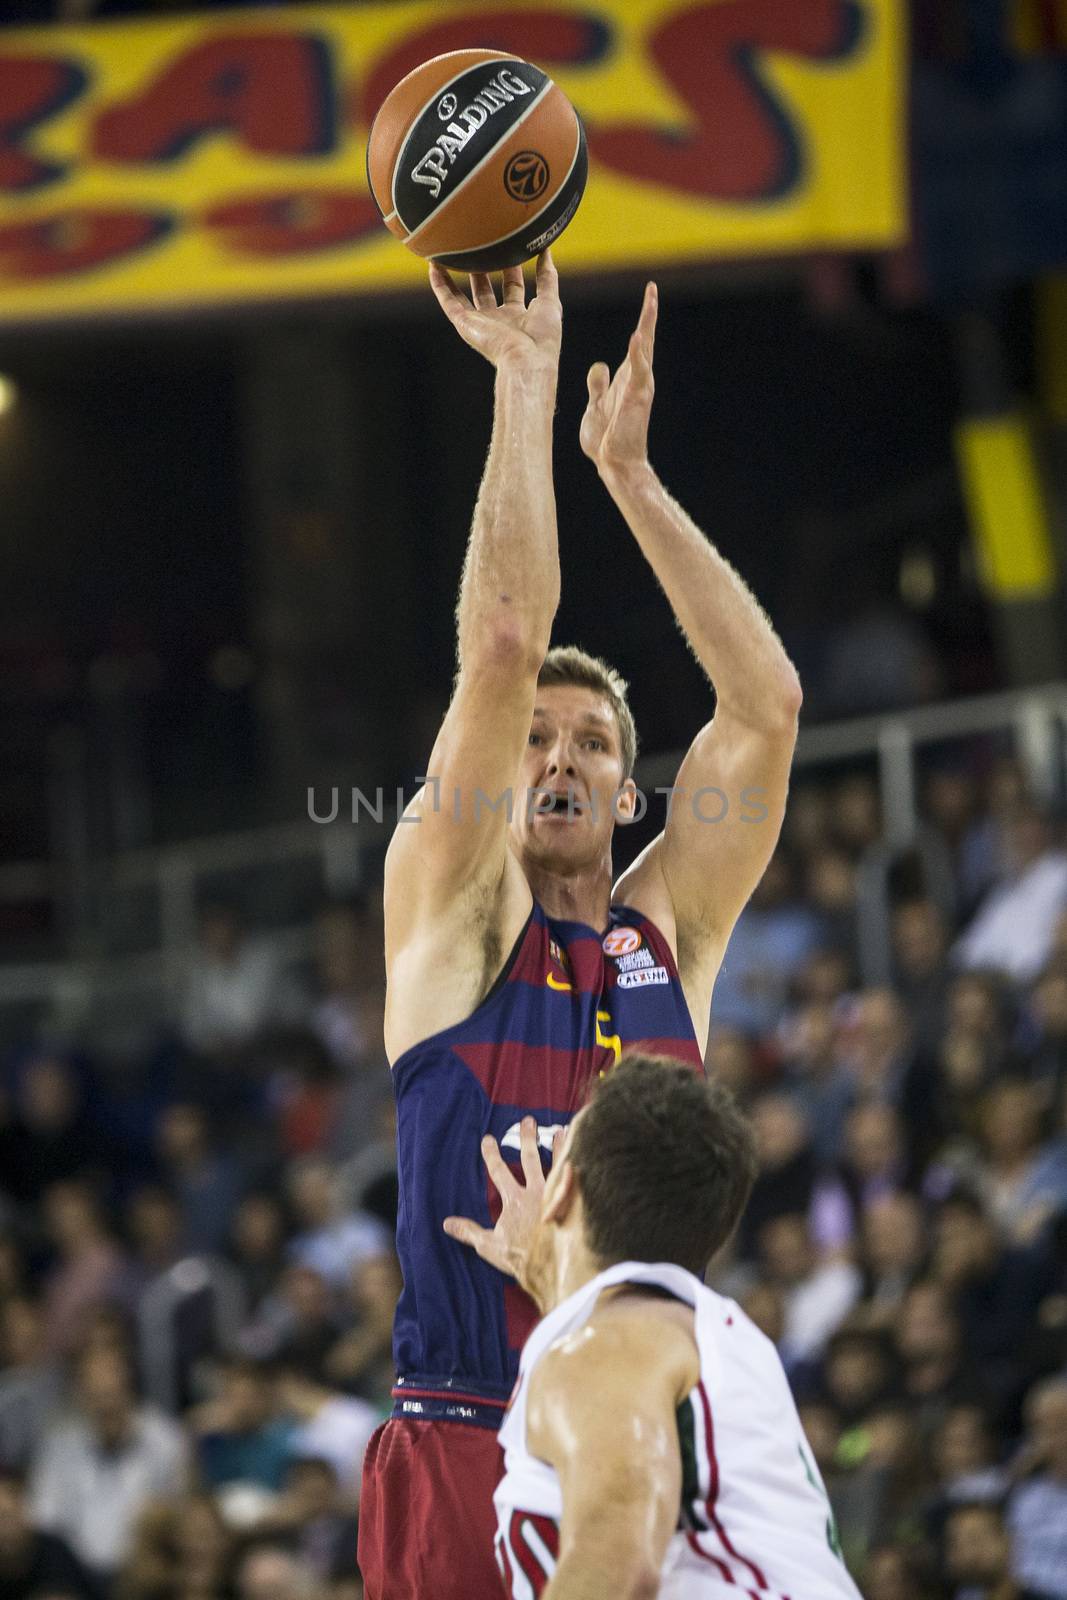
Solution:
M 877 787 L 790 798 L 715 994 L 761 1173 L 712 1282 L 777 1344 L 865 1600 L 1067 1600 L 1067 850 L 1011 760 L 923 803 L 872 981 Z M 150 1059 L 6 1062 L 0 1600 L 360 1595 L 381 896 L 320 912 L 307 971 L 270 949 L 206 904 Z

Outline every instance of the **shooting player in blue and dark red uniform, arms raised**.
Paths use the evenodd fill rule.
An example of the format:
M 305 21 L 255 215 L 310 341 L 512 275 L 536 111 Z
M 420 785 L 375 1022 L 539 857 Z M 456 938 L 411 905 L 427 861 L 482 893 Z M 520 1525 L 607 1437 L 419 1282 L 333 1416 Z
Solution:
M 781 830 L 800 685 L 752 594 L 649 466 L 649 285 L 614 378 L 603 365 L 589 373 L 581 446 L 717 706 L 681 763 L 664 832 L 613 888 L 613 832 L 637 806 L 625 685 L 581 650 L 549 648 L 560 598 L 555 266 L 539 258 L 530 304 L 518 267 L 504 272 L 501 302 L 488 275 L 470 278 L 470 298 L 438 267 L 430 283 L 496 370 L 496 392 L 456 686 L 386 862 L 403 1291 L 394 1414 L 365 1464 L 360 1566 L 368 1600 L 496 1600 L 496 1432 L 536 1307 L 443 1224 L 491 1226 L 499 1198 L 482 1141 L 539 1165 L 536 1146 L 550 1152 L 627 1045 L 702 1072 L 715 974 Z M 613 536 L 608 523 L 605 550 Z M 536 1146 L 523 1150 L 528 1117 Z

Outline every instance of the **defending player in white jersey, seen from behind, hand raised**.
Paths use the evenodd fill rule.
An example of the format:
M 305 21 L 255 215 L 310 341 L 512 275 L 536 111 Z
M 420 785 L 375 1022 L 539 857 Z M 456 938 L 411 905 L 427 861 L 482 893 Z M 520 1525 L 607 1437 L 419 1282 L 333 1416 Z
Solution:
M 486 1166 L 501 1219 L 453 1234 L 544 1312 L 501 1429 L 506 1592 L 859 1600 L 774 1346 L 699 1280 L 755 1176 L 731 1094 L 632 1054 L 547 1186 L 531 1165 L 522 1187 L 494 1146 Z

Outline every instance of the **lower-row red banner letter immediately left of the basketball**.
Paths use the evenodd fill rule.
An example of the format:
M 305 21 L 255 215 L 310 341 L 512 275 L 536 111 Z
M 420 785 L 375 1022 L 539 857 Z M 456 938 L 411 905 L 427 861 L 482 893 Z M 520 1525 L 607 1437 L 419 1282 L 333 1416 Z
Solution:
M 370 195 L 347 189 L 230 200 L 211 206 L 202 221 L 214 232 L 229 234 L 227 246 L 243 256 L 309 256 L 381 229 Z

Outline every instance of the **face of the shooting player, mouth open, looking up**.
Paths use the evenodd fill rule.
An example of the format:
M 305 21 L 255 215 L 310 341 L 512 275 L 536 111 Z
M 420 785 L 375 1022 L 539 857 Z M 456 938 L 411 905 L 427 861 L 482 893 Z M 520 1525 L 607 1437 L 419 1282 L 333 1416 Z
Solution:
M 537 690 L 512 821 L 520 850 L 565 870 L 593 866 L 633 794 L 611 701 L 576 685 Z

